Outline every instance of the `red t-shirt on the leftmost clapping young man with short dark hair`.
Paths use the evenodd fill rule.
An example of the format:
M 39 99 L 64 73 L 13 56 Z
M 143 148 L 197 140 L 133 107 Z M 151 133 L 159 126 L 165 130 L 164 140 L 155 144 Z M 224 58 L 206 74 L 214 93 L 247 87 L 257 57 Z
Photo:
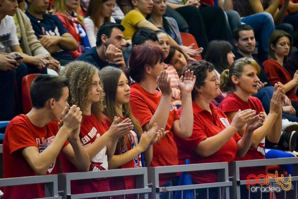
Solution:
M 57 122 L 50 122 L 44 127 L 37 127 L 30 122 L 26 115 L 22 114 L 13 118 L 6 128 L 3 139 L 3 177 L 37 176 L 24 159 L 21 149 L 36 146 L 42 153 L 51 144 L 57 132 Z M 68 144 L 68 141 L 65 141 L 62 149 Z M 59 173 L 58 161 L 57 157 L 47 170 L 46 175 Z M 4 187 L 4 199 L 40 197 L 45 197 L 44 184 Z

